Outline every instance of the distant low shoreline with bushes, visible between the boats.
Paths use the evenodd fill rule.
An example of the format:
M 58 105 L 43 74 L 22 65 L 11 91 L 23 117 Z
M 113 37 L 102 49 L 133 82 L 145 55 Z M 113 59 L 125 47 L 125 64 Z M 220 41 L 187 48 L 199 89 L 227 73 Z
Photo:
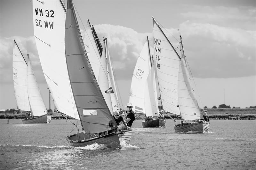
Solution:
M 228 120 L 254 120 L 256 119 L 256 108 L 246 109 L 206 109 L 210 119 L 228 119 Z M 59 113 L 51 112 L 52 119 L 66 119 Z M 171 115 L 173 119 L 179 119 L 177 115 Z M 164 114 L 165 119 L 170 119 Z M 25 114 L 0 113 L 0 119 L 24 119 Z M 144 115 L 136 115 L 137 120 L 145 119 Z

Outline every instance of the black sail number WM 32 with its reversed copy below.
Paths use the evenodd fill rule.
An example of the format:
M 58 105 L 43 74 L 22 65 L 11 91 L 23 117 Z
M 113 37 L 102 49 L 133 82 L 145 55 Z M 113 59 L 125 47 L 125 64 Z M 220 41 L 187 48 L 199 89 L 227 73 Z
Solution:
M 49 18 L 54 18 L 54 11 L 53 10 L 43 10 L 40 8 L 35 8 L 35 14 L 38 16 L 42 17 L 49 17 Z M 35 20 L 36 26 L 47 28 L 47 29 L 53 29 L 53 22 L 50 21 L 44 21 L 41 19 L 36 19 Z

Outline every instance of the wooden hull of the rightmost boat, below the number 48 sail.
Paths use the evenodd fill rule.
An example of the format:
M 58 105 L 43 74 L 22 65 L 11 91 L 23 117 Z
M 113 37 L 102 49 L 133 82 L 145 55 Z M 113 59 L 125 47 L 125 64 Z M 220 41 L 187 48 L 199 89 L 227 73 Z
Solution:
M 194 131 L 198 133 L 204 133 L 209 131 L 209 122 L 201 121 L 191 124 L 178 124 L 174 126 L 175 132 L 188 132 Z

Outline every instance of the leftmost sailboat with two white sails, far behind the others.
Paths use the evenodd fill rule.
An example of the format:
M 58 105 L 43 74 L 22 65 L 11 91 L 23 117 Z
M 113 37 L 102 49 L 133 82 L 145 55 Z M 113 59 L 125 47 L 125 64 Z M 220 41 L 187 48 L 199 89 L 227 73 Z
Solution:
M 27 63 L 15 40 L 13 44 L 12 70 L 17 109 L 31 114 L 26 119 L 22 119 L 22 123 L 50 123 L 51 115 L 47 113 L 30 59 L 28 57 Z

